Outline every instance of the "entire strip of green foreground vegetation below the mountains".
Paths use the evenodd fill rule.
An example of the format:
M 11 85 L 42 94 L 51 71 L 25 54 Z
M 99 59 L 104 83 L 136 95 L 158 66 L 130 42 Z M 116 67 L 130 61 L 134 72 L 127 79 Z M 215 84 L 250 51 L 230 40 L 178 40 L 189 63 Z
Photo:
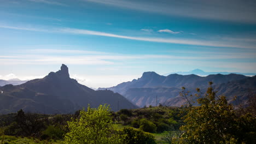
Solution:
M 73 115 L 10 113 L 0 116 L 2 143 L 256 143 L 256 100 L 228 104 L 213 91 L 183 91 L 183 107 L 144 107 L 111 112 L 109 106 Z M 197 97 L 197 101 L 193 98 Z M 199 106 L 193 106 L 193 104 Z

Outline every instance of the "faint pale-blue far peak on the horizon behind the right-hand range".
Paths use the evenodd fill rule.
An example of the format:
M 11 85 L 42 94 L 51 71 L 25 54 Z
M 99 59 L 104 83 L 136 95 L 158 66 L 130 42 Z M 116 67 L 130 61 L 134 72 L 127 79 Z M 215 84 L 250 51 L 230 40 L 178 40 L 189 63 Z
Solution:
M 207 75 L 215 75 L 215 74 L 222 74 L 222 75 L 228 75 L 228 74 L 239 74 L 239 75 L 246 75 L 246 76 L 254 76 L 256 73 L 237 73 L 237 72 L 205 72 L 201 69 L 194 69 L 190 71 L 178 71 L 178 72 L 172 72 L 168 74 L 164 74 L 165 76 L 170 74 L 179 74 L 179 75 L 200 75 L 200 76 L 207 76 Z

